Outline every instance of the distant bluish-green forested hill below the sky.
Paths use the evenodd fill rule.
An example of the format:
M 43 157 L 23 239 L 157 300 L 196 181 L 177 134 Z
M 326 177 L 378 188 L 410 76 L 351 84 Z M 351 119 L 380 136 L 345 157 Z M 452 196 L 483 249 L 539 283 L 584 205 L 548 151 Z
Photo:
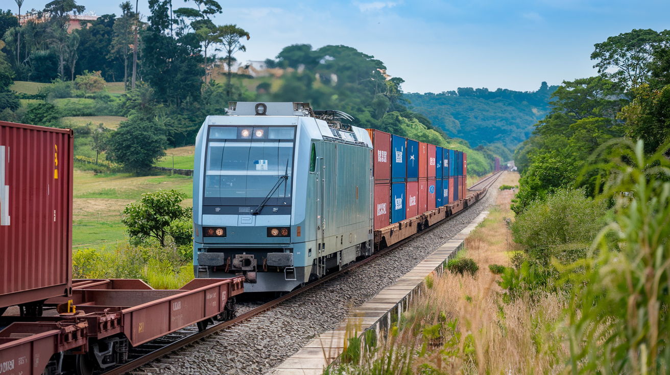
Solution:
M 542 82 L 535 92 L 458 88 L 433 94 L 408 93 L 413 110 L 429 118 L 449 136 L 471 146 L 500 143 L 515 148 L 549 112 L 549 97 L 558 86 Z

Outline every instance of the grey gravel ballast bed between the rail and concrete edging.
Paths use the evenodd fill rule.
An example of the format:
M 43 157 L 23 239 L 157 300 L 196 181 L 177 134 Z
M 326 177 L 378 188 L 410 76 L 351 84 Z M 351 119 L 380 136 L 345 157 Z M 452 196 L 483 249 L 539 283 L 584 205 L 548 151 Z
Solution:
M 347 318 L 350 307 L 374 297 L 411 271 L 495 202 L 500 180 L 486 197 L 435 229 L 340 277 L 284 301 L 242 324 L 208 336 L 133 373 L 266 374 L 322 332 Z M 254 303 L 241 310 L 256 307 Z

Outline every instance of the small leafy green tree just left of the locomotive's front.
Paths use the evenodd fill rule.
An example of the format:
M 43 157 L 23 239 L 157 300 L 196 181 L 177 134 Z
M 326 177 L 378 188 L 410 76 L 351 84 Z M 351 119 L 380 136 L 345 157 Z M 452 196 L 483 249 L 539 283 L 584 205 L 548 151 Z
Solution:
M 176 242 L 184 242 L 184 231 L 180 222 L 192 221 L 192 209 L 180 203 L 186 194 L 175 190 L 145 193 L 135 203 L 127 205 L 121 213 L 121 223 L 127 227 L 131 237 L 153 237 L 165 246 L 170 235 Z M 191 237 L 188 231 L 188 237 Z

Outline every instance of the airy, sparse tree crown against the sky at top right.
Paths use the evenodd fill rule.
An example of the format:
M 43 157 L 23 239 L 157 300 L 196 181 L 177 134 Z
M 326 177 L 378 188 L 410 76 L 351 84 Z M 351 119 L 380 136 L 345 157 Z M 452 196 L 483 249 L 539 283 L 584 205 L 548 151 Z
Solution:
M 634 89 L 647 82 L 651 70 L 654 48 L 663 43 L 664 37 L 652 29 L 633 29 L 608 37 L 596 43 L 591 53 L 592 60 L 598 60 L 594 68 L 604 77 L 618 82 L 626 89 Z M 614 68 L 614 72 L 608 72 Z

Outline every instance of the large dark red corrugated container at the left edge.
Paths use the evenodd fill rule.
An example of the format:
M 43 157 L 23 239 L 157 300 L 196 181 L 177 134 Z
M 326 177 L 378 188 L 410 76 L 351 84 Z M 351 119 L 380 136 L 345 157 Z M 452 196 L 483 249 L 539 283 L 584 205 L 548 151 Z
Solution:
M 0 121 L 0 309 L 72 292 L 73 140 Z

